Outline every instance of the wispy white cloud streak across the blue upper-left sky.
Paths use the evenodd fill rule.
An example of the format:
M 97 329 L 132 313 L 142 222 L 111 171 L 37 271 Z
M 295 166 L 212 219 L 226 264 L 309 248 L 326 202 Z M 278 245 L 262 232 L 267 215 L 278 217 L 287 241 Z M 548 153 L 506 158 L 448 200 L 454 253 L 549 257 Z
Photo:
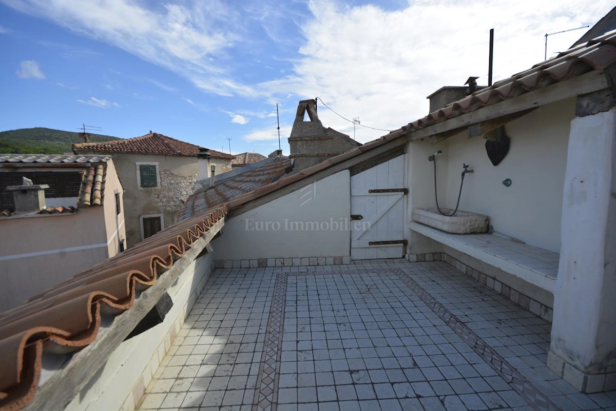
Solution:
M 239 12 L 225 2 L 194 1 L 162 6 L 131 0 L 2 2 L 168 68 L 207 92 L 254 95 L 252 87 L 230 76 L 228 64 L 217 63 L 218 59 L 214 58 L 224 54 L 239 38 Z

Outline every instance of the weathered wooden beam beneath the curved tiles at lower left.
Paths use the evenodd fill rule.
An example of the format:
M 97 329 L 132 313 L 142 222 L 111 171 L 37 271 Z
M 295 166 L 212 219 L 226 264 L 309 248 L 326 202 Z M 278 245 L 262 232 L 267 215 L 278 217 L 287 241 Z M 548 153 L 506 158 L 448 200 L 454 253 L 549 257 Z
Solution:
M 118 348 L 136 325 L 156 305 L 162 295 L 184 273 L 190 263 L 205 249 L 216 233 L 221 230 L 225 224 L 224 220 L 224 218 L 221 218 L 203 237 L 195 241 L 184 257 L 175 261 L 173 266 L 158 278 L 156 284 L 136 298 L 131 309 L 113 319 L 103 317 L 103 324 L 108 323 L 108 325 L 101 325 L 99 335 L 94 342 L 73 354 L 62 368 L 55 370 L 43 385 L 39 386 L 34 399 L 23 410 L 61 411 L 69 402 L 73 401 L 73 398 L 88 385 L 90 379 L 96 375 L 100 367 L 105 365 L 111 353 Z

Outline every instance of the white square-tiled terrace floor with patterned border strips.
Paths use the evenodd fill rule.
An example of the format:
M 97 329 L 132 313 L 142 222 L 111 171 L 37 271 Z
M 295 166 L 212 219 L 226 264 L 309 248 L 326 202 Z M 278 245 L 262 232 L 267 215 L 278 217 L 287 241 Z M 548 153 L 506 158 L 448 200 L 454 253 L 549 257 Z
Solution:
M 217 270 L 142 410 L 616 410 L 550 324 L 444 262 Z

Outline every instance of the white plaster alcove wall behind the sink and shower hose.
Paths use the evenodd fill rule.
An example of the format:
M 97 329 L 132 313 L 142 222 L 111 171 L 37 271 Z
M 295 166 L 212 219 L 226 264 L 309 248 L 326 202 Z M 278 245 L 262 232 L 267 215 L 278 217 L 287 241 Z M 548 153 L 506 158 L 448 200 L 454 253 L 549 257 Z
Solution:
M 410 143 L 408 151 L 415 153 L 410 165 L 412 206 L 436 206 L 428 156 L 442 150 L 444 154 L 437 157 L 441 208 L 455 208 L 462 164 L 470 164 L 474 173 L 464 178 L 460 210 L 488 215 L 497 231 L 559 252 L 562 186 L 574 116 L 575 99 L 570 98 L 509 122 L 505 126 L 511 137 L 509 153 L 496 167 L 485 152 L 484 138 L 469 140 L 468 132 L 436 145 L 429 139 Z M 505 178 L 511 178 L 510 187 L 502 184 Z

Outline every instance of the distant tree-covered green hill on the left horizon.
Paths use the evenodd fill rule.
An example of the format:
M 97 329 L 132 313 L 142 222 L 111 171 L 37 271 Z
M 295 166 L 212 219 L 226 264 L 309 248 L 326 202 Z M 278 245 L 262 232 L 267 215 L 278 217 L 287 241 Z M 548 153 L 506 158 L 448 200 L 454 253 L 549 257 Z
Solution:
M 119 140 L 110 135 L 92 134 L 92 142 Z M 63 154 L 71 153 L 73 143 L 83 143 L 79 132 L 46 129 L 18 129 L 0 132 L 0 153 Z

